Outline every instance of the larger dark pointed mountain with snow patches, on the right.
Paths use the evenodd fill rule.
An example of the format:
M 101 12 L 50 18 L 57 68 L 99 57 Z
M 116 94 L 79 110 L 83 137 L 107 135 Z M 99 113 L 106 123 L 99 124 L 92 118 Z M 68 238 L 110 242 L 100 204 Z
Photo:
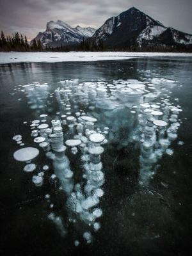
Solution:
M 192 35 L 152 19 L 132 7 L 111 17 L 95 31 L 93 39 L 103 40 L 108 49 L 134 49 L 134 47 L 191 47 Z

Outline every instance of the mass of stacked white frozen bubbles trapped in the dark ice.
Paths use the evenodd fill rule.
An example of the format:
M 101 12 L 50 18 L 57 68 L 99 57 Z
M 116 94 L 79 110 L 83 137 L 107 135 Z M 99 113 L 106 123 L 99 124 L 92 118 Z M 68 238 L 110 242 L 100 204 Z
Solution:
M 154 77 L 152 74 L 154 70 L 143 70 L 143 72 L 147 76 L 151 74 Z M 33 182 L 36 186 L 42 186 L 45 179 L 46 189 L 49 188 L 49 183 L 65 193 L 67 214 L 62 216 L 65 216 L 67 223 L 68 221 L 71 225 L 74 223 L 78 226 L 78 230 L 82 230 L 80 232 L 84 234 L 87 243 L 92 241 L 91 232 L 97 232 L 101 228 L 102 221 L 99 220 L 99 223 L 96 220 L 102 217 L 100 200 L 105 191 L 101 186 L 108 178 L 106 172 L 110 172 L 106 169 L 110 168 L 110 164 L 106 165 L 108 152 L 113 147 L 120 150 L 129 148 L 132 143 L 136 145 L 137 159 L 139 159 L 137 177 L 140 186 L 148 186 L 156 173 L 158 161 L 164 154 L 170 156 L 173 154 L 173 150 L 169 147 L 172 147 L 172 141 L 177 138 L 181 123 L 179 114 L 182 111 L 179 102 L 173 104 L 172 97 L 168 94 L 172 92 L 175 81 L 163 77 L 152 79 L 152 77 L 145 77 L 143 80 L 140 79 L 141 81 L 139 78 L 109 82 L 103 79 L 87 82 L 79 82 L 78 79 L 60 81 L 59 87 L 50 95 L 52 97 L 56 95 L 58 104 L 56 113 L 50 114 L 53 120 L 47 118 L 47 124 L 40 125 L 36 122 L 38 120 L 32 121 L 32 128 L 36 129 L 38 125 L 38 130 L 30 131 L 31 136 L 35 137 L 31 142 L 34 144 L 35 141 L 40 142 L 40 138 L 44 138 L 45 141 L 39 145 L 40 150 L 42 152 L 44 150 L 45 156 L 49 157 L 49 159 L 41 157 L 40 169 L 38 174 L 33 176 Z M 148 88 L 147 85 L 152 84 L 151 81 L 153 86 Z M 33 83 L 33 86 L 39 86 L 38 84 Z M 29 88 L 31 84 L 28 84 L 24 90 Z M 36 96 L 33 99 L 36 99 Z M 50 99 L 46 100 L 49 102 Z M 47 111 L 48 109 L 45 108 L 38 109 L 35 116 L 39 116 L 42 122 L 47 115 L 40 114 Z M 38 134 L 40 137 L 36 137 Z M 70 138 L 72 140 L 68 140 Z M 15 139 L 20 143 L 22 136 L 16 136 Z M 78 154 L 76 156 L 68 154 L 69 150 L 66 150 L 63 143 L 71 147 L 74 155 L 78 148 Z M 109 151 L 105 154 L 106 143 L 109 144 Z M 178 144 L 182 145 L 179 142 Z M 103 154 L 103 157 L 100 157 L 100 154 Z M 105 157 L 106 161 L 102 163 Z M 110 157 L 111 164 L 116 164 L 118 159 L 115 154 L 111 154 Z M 46 172 L 49 169 L 47 163 L 50 166 L 48 172 Z M 103 164 L 104 170 L 102 170 Z M 46 191 L 46 194 L 49 193 L 51 196 L 45 198 L 49 207 L 56 210 L 56 202 L 51 202 L 55 189 L 50 189 L 50 193 Z M 65 202 L 63 207 L 64 204 Z M 56 216 L 54 212 L 49 215 L 49 219 L 58 229 L 64 227 L 60 216 Z M 76 237 L 76 239 L 80 238 Z M 74 244 L 78 243 L 74 242 Z

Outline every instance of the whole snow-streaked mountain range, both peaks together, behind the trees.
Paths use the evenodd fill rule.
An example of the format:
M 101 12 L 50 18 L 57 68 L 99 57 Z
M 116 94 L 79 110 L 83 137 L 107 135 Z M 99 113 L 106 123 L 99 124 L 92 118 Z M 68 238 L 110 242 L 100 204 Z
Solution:
M 72 28 L 58 20 L 47 23 L 47 29 L 38 33 L 36 40 L 52 47 L 78 44 L 83 38 L 92 37 L 95 42 L 102 40 L 108 49 L 131 49 L 134 47 L 192 47 L 192 35 L 173 28 L 167 28 L 161 22 L 152 19 L 140 10 L 132 7 L 111 17 L 99 29 Z

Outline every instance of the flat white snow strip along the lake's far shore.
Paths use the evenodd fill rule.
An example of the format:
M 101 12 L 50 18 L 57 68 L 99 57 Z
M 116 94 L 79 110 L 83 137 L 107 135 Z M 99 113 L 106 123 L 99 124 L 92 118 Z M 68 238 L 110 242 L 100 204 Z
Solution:
M 63 62 L 129 60 L 140 57 L 192 57 L 180 52 L 0 52 L 0 64 L 19 62 Z

